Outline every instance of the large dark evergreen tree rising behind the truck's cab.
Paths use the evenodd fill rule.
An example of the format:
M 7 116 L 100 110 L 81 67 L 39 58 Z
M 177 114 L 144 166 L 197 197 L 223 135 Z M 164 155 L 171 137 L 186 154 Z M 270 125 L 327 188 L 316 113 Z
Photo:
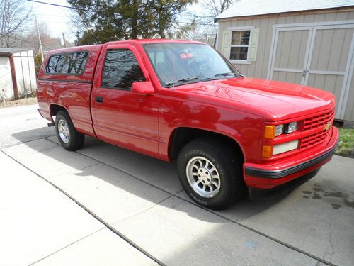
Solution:
M 196 0 L 68 0 L 76 8 L 76 44 L 166 38 L 177 16 Z

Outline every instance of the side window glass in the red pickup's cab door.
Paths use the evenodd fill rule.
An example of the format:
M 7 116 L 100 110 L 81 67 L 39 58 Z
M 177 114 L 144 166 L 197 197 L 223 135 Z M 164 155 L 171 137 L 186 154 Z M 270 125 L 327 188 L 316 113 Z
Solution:
M 101 87 L 130 90 L 133 82 L 143 81 L 145 81 L 144 74 L 131 50 L 108 50 L 103 66 Z

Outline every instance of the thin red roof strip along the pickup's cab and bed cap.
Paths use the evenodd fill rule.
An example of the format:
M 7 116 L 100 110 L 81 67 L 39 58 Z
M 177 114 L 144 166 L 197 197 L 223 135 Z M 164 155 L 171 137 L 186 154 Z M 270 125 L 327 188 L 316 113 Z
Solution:
M 105 44 L 148 44 L 148 43 L 200 43 L 194 40 L 171 40 L 171 39 L 133 39 L 133 40 L 114 40 Z M 98 45 L 81 45 L 81 46 L 73 46 L 70 48 L 62 48 L 57 50 L 51 50 L 50 54 L 53 53 L 61 53 L 61 52 L 75 52 L 79 50 L 97 50 L 101 48 L 104 44 Z

